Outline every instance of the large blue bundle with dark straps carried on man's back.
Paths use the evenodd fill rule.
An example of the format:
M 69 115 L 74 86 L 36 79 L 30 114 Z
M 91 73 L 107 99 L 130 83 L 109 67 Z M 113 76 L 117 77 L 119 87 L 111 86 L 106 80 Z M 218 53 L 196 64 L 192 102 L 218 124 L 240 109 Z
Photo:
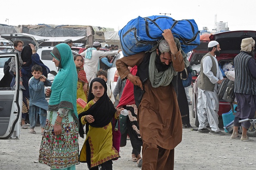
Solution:
M 124 56 L 150 51 L 163 39 L 165 29 L 171 29 L 174 37 L 181 42 L 185 53 L 200 44 L 200 35 L 194 19 L 175 20 L 168 16 L 153 15 L 129 21 L 119 30 L 120 43 Z

